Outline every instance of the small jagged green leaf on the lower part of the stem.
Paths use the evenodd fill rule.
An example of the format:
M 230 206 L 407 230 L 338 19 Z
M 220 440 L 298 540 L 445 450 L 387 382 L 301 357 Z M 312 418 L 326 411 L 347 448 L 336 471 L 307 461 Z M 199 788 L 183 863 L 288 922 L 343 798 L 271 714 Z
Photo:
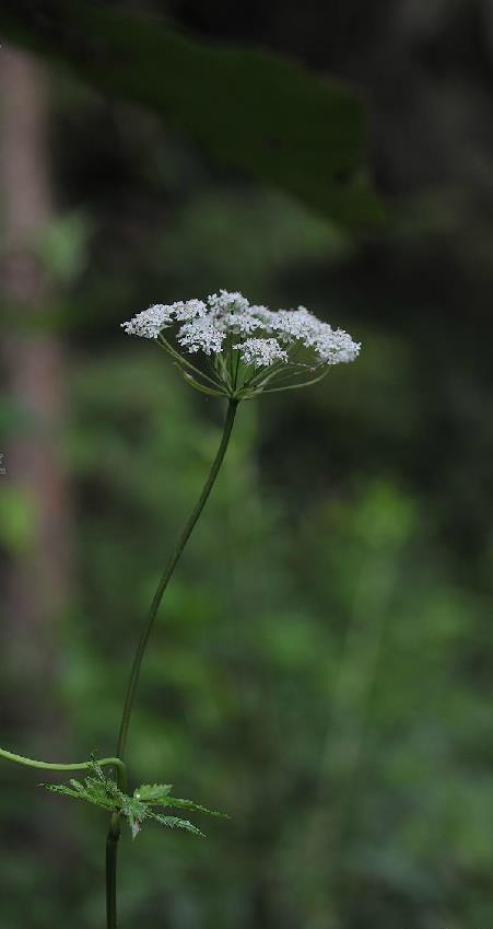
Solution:
M 223 816 L 224 814 L 208 810 L 192 800 L 183 800 L 172 797 L 168 783 L 143 783 L 137 788 L 133 796 L 129 796 L 119 789 L 116 780 L 105 774 L 101 765 L 93 760 L 90 764 L 90 774 L 83 781 L 71 778 L 69 783 L 43 783 L 40 785 L 50 793 L 61 797 L 73 797 L 84 800 L 94 806 L 99 806 L 109 813 L 120 814 L 128 823 L 132 838 L 139 834 L 144 820 L 152 820 L 171 829 L 184 829 L 193 835 L 201 836 L 203 833 L 188 820 L 179 816 L 154 812 L 154 806 L 191 810 L 195 813 L 204 813 L 209 816 Z

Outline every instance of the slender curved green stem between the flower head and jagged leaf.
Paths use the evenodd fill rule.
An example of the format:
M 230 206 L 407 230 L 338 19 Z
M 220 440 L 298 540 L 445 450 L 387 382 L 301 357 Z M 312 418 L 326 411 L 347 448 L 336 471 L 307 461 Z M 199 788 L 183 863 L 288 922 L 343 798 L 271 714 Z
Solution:
M 142 659 L 143 659 L 143 655 L 144 655 L 145 646 L 148 645 L 148 640 L 149 640 L 149 637 L 151 635 L 152 627 L 154 625 L 154 619 L 156 617 L 157 609 L 160 608 L 160 604 L 161 604 L 161 601 L 163 599 L 163 594 L 164 594 L 164 592 L 165 592 L 165 590 L 166 590 L 166 588 L 169 583 L 172 574 L 173 574 L 173 572 L 174 572 L 174 570 L 175 570 L 175 568 L 176 568 L 176 566 L 177 566 L 177 564 L 178 564 L 178 561 L 181 557 L 181 553 L 183 553 L 183 550 L 184 550 L 184 548 L 185 548 L 185 546 L 186 546 L 186 544 L 187 544 L 187 542 L 188 542 L 188 539 L 189 539 L 189 537 L 190 537 L 190 535 L 193 531 L 193 527 L 197 523 L 197 520 L 200 516 L 200 513 L 202 512 L 202 510 L 203 510 L 203 508 L 207 503 L 209 495 L 210 495 L 212 487 L 214 485 L 215 478 L 218 477 L 219 469 L 222 465 L 222 462 L 223 462 L 223 458 L 224 458 L 224 455 L 226 453 L 226 449 L 227 449 L 227 445 L 228 445 L 228 442 L 230 442 L 231 432 L 232 432 L 232 429 L 233 429 L 233 423 L 234 423 L 234 420 L 235 420 L 237 406 L 238 406 L 238 400 L 235 399 L 235 398 L 230 398 L 226 418 L 225 418 L 225 421 L 224 421 L 224 429 L 223 429 L 221 443 L 220 443 L 220 446 L 218 449 L 215 458 L 212 463 L 211 469 L 209 472 L 209 476 L 206 480 L 206 484 L 203 485 L 202 492 L 201 492 L 193 510 L 191 511 L 190 516 L 188 518 L 188 520 L 187 520 L 187 522 L 184 526 L 181 535 L 179 536 L 178 542 L 176 543 L 176 546 L 175 546 L 175 548 L 174 548 L 168 561 L 167 561 L 167 565 L 166 565 L 166 567 L 163 571 L 163 574 L 161 577 L 160 583 L 157 584 L 157 590 L 154 594 L 153 601 L 152 601 L 151 606 L 149 608 L 149 613 L 145 617 L 145 622 L 143 624 L 142 631 L 140 634 L 139 643 L 137 646 L 136 657 L 133 659 L 132 670 L 130 672 L 130 678 L 129 678 L 128 686 L 127 686 L 127 694 L 126 694 L 126 697 L 125 697 L 124 712 L 122 712 L 122 716 L 121 716 L 120 731 L 119 731 L 119 735 L 118 735 L 118 747 L 117 747 L 117 755 L 118 755 L 119 758 L 122 758 L 124 755 L 125 755 L 125 748 L 126 748 L 127 735 L 128 735 L 128 727 L 129 727 L 129 722 L 130 722 L 130 716 L 131 716 L 131 712 L 132 712 L 137 685 L 139 683 L 140 667 L 141 667 L 141 664 L 142 664 Z

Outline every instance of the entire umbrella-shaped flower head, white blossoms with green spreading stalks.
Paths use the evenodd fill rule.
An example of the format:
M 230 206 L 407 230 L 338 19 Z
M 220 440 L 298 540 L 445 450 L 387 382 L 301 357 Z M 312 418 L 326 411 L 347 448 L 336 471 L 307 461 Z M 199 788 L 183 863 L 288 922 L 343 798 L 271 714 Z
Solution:
M 226 290 L 207 301 L 156 303 L 121 325 L 154 339 L 198 391 L 236 399 L 314 384 L 361 348 L 304 306 L 273 311 Z

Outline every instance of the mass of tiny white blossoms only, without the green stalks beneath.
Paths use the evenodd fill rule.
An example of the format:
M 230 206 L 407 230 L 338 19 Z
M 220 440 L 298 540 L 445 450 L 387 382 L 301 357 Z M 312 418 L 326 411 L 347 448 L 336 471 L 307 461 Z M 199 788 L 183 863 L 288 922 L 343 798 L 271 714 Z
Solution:
M 309 351 L 312 367 L 339 364 L 354 361 L 361 347 L 343 329 L 332 329 L 305 306 L 272 311 L 250 305 L 242 293 L 226 290 L 211 294 L 207 302 L 157 303 L 122 323 L 122 327 L 129 335 L 157 339 L 176 323 L 183 324 L 176 340 L 189 353 L 219 355 L 232 336 L 236 338 L 228 341 L 231 350 L 239 351 L 242 361 L 254 368 L 300 364 L 295 355 L 303 349 Z M 250 338 L 253 333 L 256 335 Z M 237 340 L 245 336 L 245 340 Z

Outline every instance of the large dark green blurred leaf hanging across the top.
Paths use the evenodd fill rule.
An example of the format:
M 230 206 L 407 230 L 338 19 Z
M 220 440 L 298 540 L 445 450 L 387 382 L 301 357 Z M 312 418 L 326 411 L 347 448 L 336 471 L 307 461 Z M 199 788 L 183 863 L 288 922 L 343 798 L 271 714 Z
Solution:
M 340 81 L 259 49 L 207 45 L 104 4 L 4 0 L 2 34 L 141 104 L 222 162 L 349 227 L 384 218 L 365 174 L 363 106 Z

